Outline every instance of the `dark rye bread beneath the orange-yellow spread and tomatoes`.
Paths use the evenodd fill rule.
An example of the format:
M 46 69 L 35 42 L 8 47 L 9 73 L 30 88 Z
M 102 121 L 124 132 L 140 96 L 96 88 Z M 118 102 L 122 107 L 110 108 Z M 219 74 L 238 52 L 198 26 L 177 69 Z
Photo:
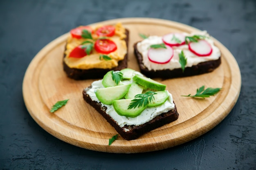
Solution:
M 111 69 L 103 69 L 103 68 L 93 68 L 93 69 L 78 69 L 78 68 L 70 68 L 67 66 L 67 64 L 63 60 L 63 68 L 65 73 L 67 74 L 67 77 L 70 77 L 72 79 L 76 80 L 83 80 L 83 79 L 97 79 L 102 78 L 108 71 L 110 70 L 121 70 L 123 68 L 127 68 L 127 62 L 128 62 L 128 42 L 129 42 L 129 31 L 126 29 L 126 38 L 124 39 L 127 46 L 127 53 L 124 56 L 124 60 L 120 60 L 118 62 L 118 66 L 111 68 Z M 66 57 L 64 53 L 63 59 Z

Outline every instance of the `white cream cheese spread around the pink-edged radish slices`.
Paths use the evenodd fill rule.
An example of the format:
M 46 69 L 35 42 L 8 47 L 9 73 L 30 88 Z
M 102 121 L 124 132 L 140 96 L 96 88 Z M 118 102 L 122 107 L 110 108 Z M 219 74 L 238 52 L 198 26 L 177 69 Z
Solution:
M 164 70 L 169 69 L 173 70 L 175 68 L 181 68 L 180 62 L 179 62 L 179 53 L 183 50 L 186 58 L 187 58 L 187 64 L 186 67 L 191 67 L 193 65 L 196 65 L 200 62 L 206 62 L 210 60 L 218 60 L 220 57 L 220 49 L 218 49 L 217 46 L 213 44 L 213 40 L 211 39 L 210 35 L 207 33 L 207 31 L 200 31 L 196 33 L 184 33 L 185 36 L 193 36 L 193 35 L 204 35 L 207 38 L 205 40 L 211 45 L 212 53 L 209 56 L 206 57 L 199 57 L 198 55 L 195 55 L 189 50 L 189 46 L 187 44 L 181 45 L 181 46 L 173 46 L 174 55 L 173 58 L 170 60 L 170 62 L 166 64 L 157 64 L 153 63 L 148 59 L 148 49 L 150 45 L 153 44 L 161 44 L 164 43 L 162 41 L 161 36 L 149 36 L 148 38 L 142 40 L 141 42 L 137 43 L 137 49 L 139 53 L 141 53 L 143 57 L 143 64 L 148 68 L 148 70 Z

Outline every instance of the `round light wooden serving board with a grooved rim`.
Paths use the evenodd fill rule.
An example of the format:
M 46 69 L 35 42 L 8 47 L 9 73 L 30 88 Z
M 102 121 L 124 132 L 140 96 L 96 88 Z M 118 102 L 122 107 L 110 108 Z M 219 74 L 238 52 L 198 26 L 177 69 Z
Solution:
M 164 35 L 169 32 L 193 32 L 197 29 L 181 23 L 153 18 L 121 18 L 96 24 L 122 24 L 130 30 L 128 67 L 139 71 L 132 45 L 142 40 L 139 33 Z M 81 148 L 115 153 L 137 153 L 162 150 L 183 144 L 211 130 L 234 107 L 241 87 L 241 76 L 234 56 L 214 39 L 222 53 L 222 64 L 213 72 L 176 79 L 155 79 L 166 84 L 172 93 L 180 114 L 179 118 L 152 130 L 136 140 L 126 141 L 121 136 L 110 146 L 108 140 L 116 135 L 115 129 L 88 105 L 82 97 L 83 88 L 95 79 L 76 81 L 67 78 L 62 58 L 68 33 L 45 46 L 31 61 L 23 80 L 23 97 L 31 117 L 53 136 Z M 204 85 L 222 88 L 206 99 L 182 97 L 194 94 Z M 60 100 L 68 103 L 50 113 L 51 107 Z

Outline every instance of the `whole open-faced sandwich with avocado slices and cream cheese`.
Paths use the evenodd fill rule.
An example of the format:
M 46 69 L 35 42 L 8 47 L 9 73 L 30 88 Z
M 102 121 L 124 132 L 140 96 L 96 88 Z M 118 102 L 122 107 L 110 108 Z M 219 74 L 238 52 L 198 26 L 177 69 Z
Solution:
M 179 116 L 166 85 L 130 68 L 109 71 L 83 90 L 83 99 L 126 140 L 136 139 Z

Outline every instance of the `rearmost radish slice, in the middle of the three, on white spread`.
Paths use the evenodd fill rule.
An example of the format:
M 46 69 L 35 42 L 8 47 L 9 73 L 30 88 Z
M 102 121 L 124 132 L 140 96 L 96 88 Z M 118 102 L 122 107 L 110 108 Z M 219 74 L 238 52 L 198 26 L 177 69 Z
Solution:
M 185 37 L 182 33 L 169 33 L 164 35 L 162 40 L 168 46 L 180 46 L 185 44 Z

